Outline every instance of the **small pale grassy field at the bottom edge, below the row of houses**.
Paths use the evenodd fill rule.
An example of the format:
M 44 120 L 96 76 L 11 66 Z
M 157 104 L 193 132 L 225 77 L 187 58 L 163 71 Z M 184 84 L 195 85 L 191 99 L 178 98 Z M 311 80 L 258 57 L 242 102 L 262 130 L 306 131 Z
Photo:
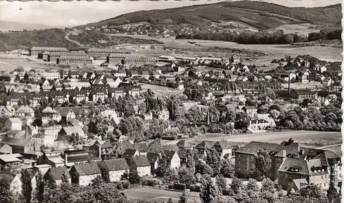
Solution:
M 167 201 L 169 198 L 172 198 L 174 202 L 178 202 L 178 199 L 180 197 L 180 192 L 177 191 L 166 191 L 162 189 L 151 189 L 147 187 L 139 187 L 134 189 L 129 189 L 124 192 L 129 199 L 134 200 L 164 200 Z M 193 200 L 196 200 L 197 202 L 200 202 L 200 198 L 189 196 L 189 200 L 192 202 Z

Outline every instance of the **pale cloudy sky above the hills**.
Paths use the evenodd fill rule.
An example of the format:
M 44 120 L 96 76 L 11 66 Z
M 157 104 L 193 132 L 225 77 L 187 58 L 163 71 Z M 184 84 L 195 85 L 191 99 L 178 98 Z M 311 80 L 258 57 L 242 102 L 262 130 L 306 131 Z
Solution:
M 225 0 L 219 0 L 225 1 Z M 341 3 L 341 0 L 263 0 L 290 7 L 317 7 Z M 198 1 L 0 1 L 0 21 L 17 21 L 56 27 L 85 25 L 120 14 L 139 10 L 175 8 L 187 5 L 216 3 Z M 19 8 L 22 8 L 20 10 Z

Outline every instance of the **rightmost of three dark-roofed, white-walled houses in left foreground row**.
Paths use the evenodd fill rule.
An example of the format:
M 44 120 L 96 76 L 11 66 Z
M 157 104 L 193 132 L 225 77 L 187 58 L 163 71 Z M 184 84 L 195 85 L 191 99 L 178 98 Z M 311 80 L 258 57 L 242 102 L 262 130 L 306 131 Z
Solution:
M 149 163 L 147 156 L 131 156 L 127 163 L 131 171 L 138 171 L 139 176 L 148 176 L 151 174 L 151 164 Z

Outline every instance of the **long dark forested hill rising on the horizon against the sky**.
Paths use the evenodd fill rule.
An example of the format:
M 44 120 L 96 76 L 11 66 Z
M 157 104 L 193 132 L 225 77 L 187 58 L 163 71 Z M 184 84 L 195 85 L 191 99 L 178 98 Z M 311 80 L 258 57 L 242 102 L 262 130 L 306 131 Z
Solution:
M 268 29 L 290 23 L 341 25 L 341 18 L 341 4 L 318 8 L 289 8 L 275 3 L 234 1 L 132 12 L 78 28 L 124 25 L 142 21 L 173 25 L 206 25 L 211 22 L 238 21 L 259 29 Z

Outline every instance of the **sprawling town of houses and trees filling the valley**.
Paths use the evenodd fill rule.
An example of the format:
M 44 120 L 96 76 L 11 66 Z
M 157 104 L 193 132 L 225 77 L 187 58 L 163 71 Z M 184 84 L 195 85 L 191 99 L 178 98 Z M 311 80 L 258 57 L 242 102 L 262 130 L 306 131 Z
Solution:
M 8 181 L 3 195 L 23 193 L 28 202 L 40 201 L 35 191 L 46 181 L 61 193 L 65 184 L 90 187 L 94 181 L 119 190 L 143 184 L 197 193 L 213 177 L 219 187 L 217 195 L 209 194 L 213 198 L 237 201 L 241 192 L 233 188 L 252 187 L 251 195 L 259 192 L 258 183 L 269 188 L 273 202 L 313 187 L 339 198 L 341 154 L 319 148 L 325 145 L 299 143 L 288 133 L 280 143 L 221 138 L 340 132 L 336 64 L 286 56 L 272 61 L 275 69 L 261 71 L 236 54 L 147 58 L 118 49 L 63 47 L 32 47 L 21 55 L 54 65 L 0 76 L 1 182 Z M 85 69 L 94 62 L 98 70 Z M 290 88 L 314 81 L 312 88 Z

